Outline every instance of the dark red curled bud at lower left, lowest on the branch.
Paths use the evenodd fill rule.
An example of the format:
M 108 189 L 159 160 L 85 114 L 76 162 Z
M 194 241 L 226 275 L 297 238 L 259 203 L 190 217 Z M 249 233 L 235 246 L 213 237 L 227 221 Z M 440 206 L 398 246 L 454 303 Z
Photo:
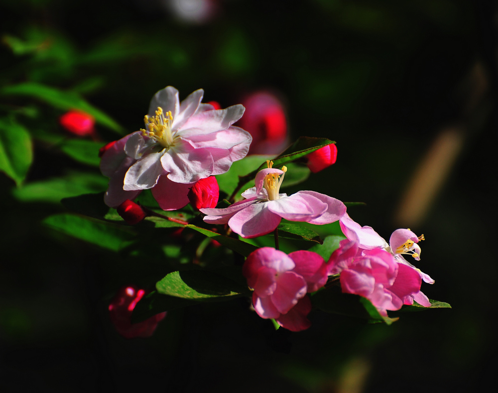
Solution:
M 142 322 L 131 323 L 131 313 L 145 291 L 134 286 L 121 288 L 109 304 L 109 316 L 114 327 L 125 338 L 150 337 L 166 312 L 154 315 Z

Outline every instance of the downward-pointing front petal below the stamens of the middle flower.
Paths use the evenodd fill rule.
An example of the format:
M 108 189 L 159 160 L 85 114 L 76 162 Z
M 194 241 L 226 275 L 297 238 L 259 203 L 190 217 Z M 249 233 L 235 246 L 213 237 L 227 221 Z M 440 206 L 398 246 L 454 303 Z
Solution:
M 281 218 L 266 208 L 265 202 L 250 204 L 235 213 L 228 221 L 230 228 L 242 237 L 251 238 L 273 231 Z

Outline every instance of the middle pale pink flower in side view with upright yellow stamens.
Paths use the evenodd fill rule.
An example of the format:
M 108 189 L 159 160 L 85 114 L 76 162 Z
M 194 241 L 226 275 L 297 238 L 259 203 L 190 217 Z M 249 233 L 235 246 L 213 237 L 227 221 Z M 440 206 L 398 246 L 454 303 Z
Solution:
M 338 199 L 314 191 L 298 191 L 287 197 L 279 194 L 286 167 L 271 168 L 256 175 L 255 186 L 246 190 L 246 198 L 223 209 L 200 209 L 207 214 L 204 221 L 211 224 L 228 223 L 242 237 L 251 238 L 273 231 L 282 218 L 323 225 L 339 220 L 346 213 L 346 206 Z

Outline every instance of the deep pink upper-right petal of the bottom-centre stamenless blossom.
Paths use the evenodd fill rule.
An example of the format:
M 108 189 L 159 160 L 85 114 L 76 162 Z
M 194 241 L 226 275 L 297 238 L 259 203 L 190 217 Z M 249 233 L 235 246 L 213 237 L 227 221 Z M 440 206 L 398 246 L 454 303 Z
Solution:
M 308 285 L 308 292 L 322 288 L 328 279 L 327 264 L 317 253 L 311 251 L 295 251 L 289 254 L 296 267 L 293 272 L 301 275 Z

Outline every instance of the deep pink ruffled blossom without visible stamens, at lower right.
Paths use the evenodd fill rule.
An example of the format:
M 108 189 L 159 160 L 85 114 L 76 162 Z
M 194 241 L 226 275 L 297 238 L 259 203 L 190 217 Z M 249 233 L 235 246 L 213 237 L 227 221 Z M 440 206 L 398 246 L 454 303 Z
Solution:
M 384 316 L 386 310 L 399 310 L 403 304 L 409 304 L 411 296 L 420 293 L 420 275 L 415 269 L 397 263 L 387 251 L 375 248 L 358 254 L 355 242 L 343 247 L 347 251 L 336 250 L 329 264 L 331 274 L 340 273 L 344 293 L 366 297 Z M 355 256 L 351 256 L 351 250 Z

